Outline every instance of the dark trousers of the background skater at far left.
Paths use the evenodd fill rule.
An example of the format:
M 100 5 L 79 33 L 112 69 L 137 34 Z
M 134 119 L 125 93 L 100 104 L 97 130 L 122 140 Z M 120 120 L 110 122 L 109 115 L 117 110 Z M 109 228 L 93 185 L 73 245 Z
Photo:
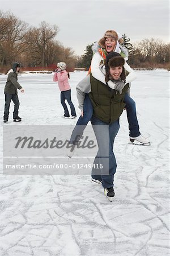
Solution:
M 3 119 L 8 120 L 11 100 L 14 102 L 13 118 L 18 117 L 19 99 L 17 94 L 5 93 L 5 110 Z

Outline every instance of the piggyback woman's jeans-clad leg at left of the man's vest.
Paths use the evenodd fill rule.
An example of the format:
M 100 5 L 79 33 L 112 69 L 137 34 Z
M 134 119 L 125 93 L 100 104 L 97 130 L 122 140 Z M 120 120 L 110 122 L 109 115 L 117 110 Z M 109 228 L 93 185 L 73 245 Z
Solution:
M 90 97 L 88 94 L 86 94 L 86 97 L 84 99 L 84 106 L 83 106 L 83 117 L 80 116 L 78 121 L 76 122 L 76 125 L 74 127 L 74 130 L 71 134 L 70 143 L 71 144 L 78 144 L 79 139 L 83 135 L 83 131 L 87 126 L 87 123 L 90 121 L 93 113 L 93 107 L 91 104 Z

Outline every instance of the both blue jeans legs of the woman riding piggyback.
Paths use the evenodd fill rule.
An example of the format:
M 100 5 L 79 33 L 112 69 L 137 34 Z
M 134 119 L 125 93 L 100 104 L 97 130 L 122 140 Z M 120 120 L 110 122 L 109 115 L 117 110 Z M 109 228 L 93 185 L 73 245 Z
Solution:
M 124 100 L 126 106 L 126 113 L 129 123 L 129 136 L 130 137 L 138 137 L 141 133 L 139 131 L 139 124 L 137 119 L 137 112 L 136 112 L 136 106 L 135 101 L 130 98 L 128 93 L 125 94 L 125 100 Z M 90 121 L 93 114 L 93 107 L 91 100 L 86 94 L 85 100 L 84 100 L 84 106 L 83 106 L 83 117 L 79 117 L 78 121 L 76 122 L 76 125 L 74 127 L 74 130 L 71 134 L 70 143 L 71 144 L 78 144 L 79 139 L 83 135 L 83 131 L 87 126 L 87 123 Z

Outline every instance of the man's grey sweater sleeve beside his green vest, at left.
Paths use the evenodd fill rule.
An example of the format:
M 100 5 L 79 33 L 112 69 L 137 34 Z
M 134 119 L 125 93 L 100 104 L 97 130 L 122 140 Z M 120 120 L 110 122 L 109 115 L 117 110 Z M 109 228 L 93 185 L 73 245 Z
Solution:
M 91 92 L 90 75 L 84 77 L 76 86 L 76 97 L 79 102 L 79 109 L 83 110 L 84 98 Z

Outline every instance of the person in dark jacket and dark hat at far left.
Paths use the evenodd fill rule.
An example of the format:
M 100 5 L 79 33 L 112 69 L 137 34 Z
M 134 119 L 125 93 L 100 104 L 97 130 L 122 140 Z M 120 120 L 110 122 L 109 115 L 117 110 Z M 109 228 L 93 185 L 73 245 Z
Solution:
M 3 122 L 7 123 L 8 116 L 9 116 L 9 109 L 10 109 L 10 103 L 11 100 L 14 102 L 14 112 L 13 112 L 13 119 L 14 122 L 20 122 L 22 121 L 22 118 L 18 116 L 18 109 L 19 109 L 19 99 L 18 99 L 18 92 L 19 89 L 20 92 L 24 93 L 24 89 L 18 82 L 18 73 L 20 69 L 20 63 L 15 62 L 12 64 L 12 69 L 8 71 L 7 73 L 7 81 L 4 89 L 5 93 L 5 110 L 3 115 Z

